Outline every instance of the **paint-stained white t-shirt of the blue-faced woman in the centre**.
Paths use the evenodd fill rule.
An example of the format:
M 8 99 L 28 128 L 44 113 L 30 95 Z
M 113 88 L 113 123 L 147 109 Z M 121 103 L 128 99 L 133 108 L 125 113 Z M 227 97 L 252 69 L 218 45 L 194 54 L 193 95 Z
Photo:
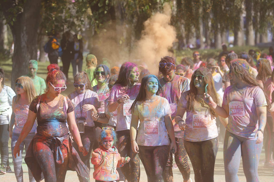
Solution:
M 170 145 L 164 116 L 171 114 L 166 98 L 156 96 L 153 101 L 138 101 L 133 113 L 139 116 L 139 129 L 136 142 L 142 146 Z

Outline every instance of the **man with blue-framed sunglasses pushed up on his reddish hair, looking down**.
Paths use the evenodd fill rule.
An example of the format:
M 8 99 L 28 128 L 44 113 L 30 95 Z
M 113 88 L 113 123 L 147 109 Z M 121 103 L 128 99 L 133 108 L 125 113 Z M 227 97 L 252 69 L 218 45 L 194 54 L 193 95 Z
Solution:
M 165 56 L 161 59 L 159 63 L 159 71 L 163 74 L 163 78 L 160 79 L 160 84 L 162 86 L 163 92 L 159 95 L 168 100 L 172 111 L 172 119 L 174 119 L 176 115 L 177 103 L 179 102 L 181 94 L 189 90 L 188 79 L 183 76 L 175 75 L 175 69 L 176 67 L 174 58 L 170 56 Z M 191 179 L 189 178 L 190 167 L 188 164 L 187 153 L 184 148 L 184 131 L 181 130 L 177 124 L 174 124 L 174 132 L 177 145 L 175 162 L 181 174 L 183 175 L 184 182 L 189 182 L 191 181 Z M 167 161 L 167 166 L 164 171 L 165 182 L 173 182 L 172 161 L 173 157 L 172 153 L 170 152 L 170 157 Z

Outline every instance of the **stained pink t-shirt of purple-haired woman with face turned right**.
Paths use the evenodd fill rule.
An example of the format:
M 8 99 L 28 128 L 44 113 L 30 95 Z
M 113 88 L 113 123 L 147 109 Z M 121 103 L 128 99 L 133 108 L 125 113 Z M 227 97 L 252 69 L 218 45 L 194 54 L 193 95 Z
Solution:
M 131 113 L 129 109 L 140 91 L 140 86 L 140 83 L 136 83 L 136 85 L 132 86 L 132 88 L 129 88 L 128 90 L 125 90 L 126 87 L 121 86 L 120 84 L 115 84 L 112 87 L 111 92 L 109 94 L 109 102 L 116 102 L 124 94 L 127 94 L 130 98 L 127 100 L 127 103 L 121 103 L 117 108 L 116 131 L 130 129 Z

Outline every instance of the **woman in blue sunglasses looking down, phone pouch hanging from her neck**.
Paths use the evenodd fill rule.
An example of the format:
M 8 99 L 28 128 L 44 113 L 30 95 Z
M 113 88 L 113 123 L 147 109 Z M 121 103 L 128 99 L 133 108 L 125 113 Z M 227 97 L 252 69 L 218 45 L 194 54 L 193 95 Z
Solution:
M 95 125 L 91 113 L 97 113 L 100 107 L 97 93 L 91 91 L 91 83 L 86 72 L 79 72 L 74 77 L 75 91 L 68 95 L 71 100 L 74 111 L 76 124 L 80 132 L 83 147 L 88 151 L 88 155 L 84 156 L 77 150 L 76 142 L 73 142 L 73 147 L 79 153 L 81 160 L 90 169 L 90 154 L 95 142 Z

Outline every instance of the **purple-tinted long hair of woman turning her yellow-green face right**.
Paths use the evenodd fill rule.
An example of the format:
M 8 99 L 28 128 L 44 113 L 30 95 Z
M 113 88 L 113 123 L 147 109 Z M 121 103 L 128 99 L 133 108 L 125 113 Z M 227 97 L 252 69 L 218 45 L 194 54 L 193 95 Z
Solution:
M 118 79 L 114 83 L 114 85 L 120 84 L 121 86 L 126 86 L 125 92 L 128 90 L 128 88 L 131 88 L 132 85 L 129 79 L 129 75 L 134 67 L 137 67 L 137 65 L 133 62 L 125 62 L 124 64 L 122 64 L 119 71 Z

